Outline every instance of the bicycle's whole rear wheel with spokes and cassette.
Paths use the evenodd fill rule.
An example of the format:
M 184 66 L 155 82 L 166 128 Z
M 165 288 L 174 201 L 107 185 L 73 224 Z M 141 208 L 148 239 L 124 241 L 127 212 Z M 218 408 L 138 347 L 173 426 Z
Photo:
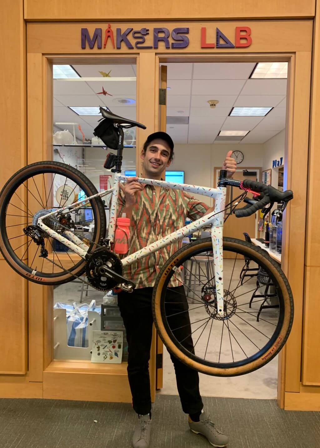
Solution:
M 60 162 L 37 162 L 21 168 L 0 193 L 0 250 L 4 259 L 18 274 L 39 284 L 62 284 L 80 276 L 85 271 L 83 258 L 48 236 L 44 236 L 48 257 L 41 258 L 40 246 L 24 229 L 30 225 L 36 227 L 39 216 L 76 202 L 79 194 L 80 199 L 85 200 L 97 193 L 84 174 Z M 87 232 L 88 222 L 91 232 Z M 77 213 L 66 210 L 59 217 L 53 215 L 47 218 L 47 225 L 58 233 L 67 230 L 76 234 L 90 253 L 105 237 L 106 215 L 102 200 L 100 197 L 90 199 L 90 207 Z

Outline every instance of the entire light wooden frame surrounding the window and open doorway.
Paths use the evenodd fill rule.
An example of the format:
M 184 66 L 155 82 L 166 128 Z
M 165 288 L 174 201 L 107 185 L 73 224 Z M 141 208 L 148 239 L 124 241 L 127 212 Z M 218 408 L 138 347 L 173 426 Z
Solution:
M 224 26 L 227 30 L 230 30 L 236 23 L 235 21 L 226 21 Z M 213 49 L 211 51 L 208 49 L 208 51 L 205 50 L 207 53 L 204 54 L 201 53 L 200 45 L 196 44 L 196 40 L 191 40 L 189 53 L 170 49 L 170 52 L 164 54 L 153 49 L 151 51 L 133 50 L 131 54 L 128 54 L 124 48 L 119 50 L 116 55 L 115 51 L 111 53 L 112 57 L 137 56 L 138 58 L 137 120 L 148 127 L 146 131 L 139 131 L 141 141 L 158 129 L 159 62 L 256 62 L 261 60 L 289 62 L 285 143 L 285 156 L 289 163 L 285 173 L 285 185 L 286 188 L 292 186 L 297 193 L 295 193 L 294 201 L 287 208 L 283 226 L 284 251 L 289 253 L 290 250 L 290 254 L 293 254 L 290 258 L 284 257 L 283 269 L 289 278 L 295 299 L 293 329 L 285 349 L 281 352 L 279 361 L 278 402 L 281 407 L 285 407 L 286 393 L 300 392 L 303 310 L 303 279 L 301 279 L 301 273 L 303 273 L 305 246 L 305 241 L 301 238 L 301 229 L 304 229 L 306 224 L 307 189 L 307 177 L 301 176 L 301 172 L 307 172 L 312 24 L 308 20 L 266 20 L 249 23 L 250 26 L 257 26 L 255 50 L 252 52 L 250 48 L 235 48 L 230 50 L 230 53 L 227 50 L 222 53 L 220 50 Z M 64 57 L 68 60 L 73 58 L 81 60 L 82 57 L 94 59 L 109 56 L 109 54 L 102 52 L 97 56 L 95 50 L 91 54 L 89 54 L 89 49 L 83 52 L 79 50 L 79 44 L 74 37 L 77 34 L 73 34 L 74 30 L 77 31 L 79 25 L 75 23 L 27 24 L 28 163 L 44 159 L 43 156 L 47 154 L 49 142 L 51 148 L 51 134 L 48 129 L 51 101 L 50 84 L 47 82 L 48 77 L 50 77 L 48 59 L 56 57 L 61 60 Z M 177 26 L 179 25 L 178 22 Z M 217 25 L 219 26 L 218 22 Z M 242 23 L 239 23 L 239 25 L 242 25 Z M 143 26 L 149 25 L 144 24 Z M 175 26 L 174 22 L 171 22 L 170 26 Z M 195 25 L 190 22 L 190 30 L 194 29 Z M 299 30 L 303 30 L 303 32 L 299 34 Z M 268 36 L 276 35 L 278 32 L 282 32 L 284 36 L 280 44 L 276 40 L 268 38 Z M 52 35 L 55 35 L 55 39 L 52 39 Z M 297 35 L 300 35 L 300 39 L 296 39 Z M 299 88 L 294 89 L 295 83 Z M 154 115 L 150 113 L 151 111 L 154 111 Z M 47 292 L 45 289 L 36 284 L 32 284 L 29 288 L 29 373 L 30 382 L 43 381 L 43 396 L 49 398 L 52 396 L 47 394 L 48 387 L 51 388 L 51 391 L 53 388 L 57 389 L 57 375 L 52 375 L 52 372 L 45 370 L 52 351 L 52 346 L 47 344 L 47 339 L 50 339 L 53 328 L 52 310 L 49 310 L 46 305 Z M 45 354 L 46 350 L 47 355 Z M 61 375 L 61 381 L 66 391 L 64 398 L 69 397 L 68 387 L 69 385 L 71 388 L 74 386 L 76 378 L 77 381 L 79 379 L 80 382 L 81 379 L 82 382 L 81 373 L 86 373 L 85 369 L 70 369 L 68 373 Z M 99 373 L 101 374 L 101 371 Z M 88 375 L 93 378 L 91 374 Z M 61 384 L 60 392 L 64 392 L 61 389 Z M 115 391 L 115 394 L 117 393 L 119 393 L 118 390 Z M 87 399 L 87 397 L 82 396 L 82 399 Z M 103 400 L 103 397 L 90 396 L 90 399 L 97 399 L 98 401 L 99 399 Z

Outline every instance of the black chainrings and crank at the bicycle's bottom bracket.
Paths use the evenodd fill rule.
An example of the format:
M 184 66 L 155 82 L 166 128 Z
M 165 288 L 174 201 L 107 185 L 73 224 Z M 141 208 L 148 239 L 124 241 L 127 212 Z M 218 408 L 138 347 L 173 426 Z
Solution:
M 119 283 L 111 277 L 106 268 L 122 275 L 120 258 L 106 247 L 100 247 L 89 255 L 86 265 L 88 282 L 100 291 L 108 291 Z

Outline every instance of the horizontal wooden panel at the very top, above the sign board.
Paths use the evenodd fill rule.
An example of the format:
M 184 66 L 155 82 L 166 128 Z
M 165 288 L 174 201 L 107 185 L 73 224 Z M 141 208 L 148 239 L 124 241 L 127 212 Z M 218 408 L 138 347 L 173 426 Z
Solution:
M 242 18 L 313 17 L 315 0 L 230 0 L 216 2 L 203 0 L 150 0 L 143 2 L 108 2 L 103 0 L 25 0 L 25 18 L 28 21 L 95 20 L 181 20 Z

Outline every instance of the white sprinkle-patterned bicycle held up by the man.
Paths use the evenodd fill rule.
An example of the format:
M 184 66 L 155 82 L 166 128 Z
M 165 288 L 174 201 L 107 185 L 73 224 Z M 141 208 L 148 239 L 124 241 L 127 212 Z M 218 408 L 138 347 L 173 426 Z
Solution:
M 119 183 L 126 181 L 126 177 L 121 175 L 124 129 L 133 126 L 145 129 L 145 126 L 103 108 L 100 108 L 100 112 L 102 121 L 95 128 L 94 135 L 102 138 L 109 148 L 117 150 L 117 155 L 107 155 L 104 164 L 105 168 L 115 173 L 113 187 L 98 193 L 83 173 L 60 162 L 37 162 L 21 168 L 0 193 L 0 250 L 6 261 L 22 277 L 38 284 L 63 284 L 85 273 L 85 282 L 96 289 L 107 291 L 121 288 L 130 292 L 135 285 L 122 276 L 124 266 L 209 227 L 211 237 L 182 246 L 159 272 L 152 303 L 157 331 L 171 353 L 208 375 L 243 375 L 271 361 L 282 349 L 291 330 L 294 305 L 290 285 L 278 264 L 265 251 L 245 241 L 223 238 L 222 231 L 226 210 L 235 213 L 237 217 L 248 216 L 259 209 L 267 213 L 273 203 L 278 202 L 281 208 L 277 219 L 280 220 L 293 198 L 292 191 L 282 193 L 260 182 L 228 179 L 224 171 L 220 173 L 216 189 L 138 178 L 142 184 L 209 196 L 215 199 L 215 208 L 212 214 L 160 238 L 134 254 L 119 258 L 113 252 L 113 244 Z M 242 193 L 226 205 L 228 185 L 238 187 Z M 247 198 L 248 193 L 252 193 L 253 198 Z M 106 238 L 106 214 L 102 198 L 110 194 L 110 222 Z M 242 200 L 247 205 L 236 208 Z M 88 207 L 92 210 L 93 227 L 90 233 L 85 233 L 83 226 L 79 227 L 81 220 L 77 220 L 77 217 L 81 217 Z M 26 222 L 21 223 L 21 219 Z M 72 251 L 71 254 L 65 252 L 62 262 L 59 258 L 59 254 L 62 258 L 61 252 L 56 250 L 59 243 Z M 40 255 L 36 258 L 39 251 Z M 242 282 L 241 277 L 239 279 L 244 262 L 241 256 L 255 263 L 269 277 L 278 308 L 258 311 L 259 302 L 265 297 L 250 301 L 250 293 L 256 290 L 256 282 L 253 280 L 251 289 L 251 277 Z M 193 273 L 191 262 L 196 257 L 202 261 L 198 263 L 198 273 Z M 206 262 L 206 272 L 201 266 L 203 262 Z M 187 280 L 182 280 L 182 266 L 188 284 Z M 182 282 L 186 296 L 181 297 L 181 302 L 175 303 L 176 312 L 167 315 L 166 289 L 173 276 Z M 201 280 L 203 277 L 205 280 Z M 170 305 L 172 313 L 172 303 Z M 172 322 L 176 319 L 172 319 L 172 316 L 181 313 L 188 313 L 191 334 L 197 337 L 192 351 L 183 346 L 183 340 L 179 340 L 179 327 L 173 328 L 176 324 Z M 259 323 L 256 322 L 257 313 L 260 316 Z M 198 342 L 201 337 L 205 344 L 200 347 Z

